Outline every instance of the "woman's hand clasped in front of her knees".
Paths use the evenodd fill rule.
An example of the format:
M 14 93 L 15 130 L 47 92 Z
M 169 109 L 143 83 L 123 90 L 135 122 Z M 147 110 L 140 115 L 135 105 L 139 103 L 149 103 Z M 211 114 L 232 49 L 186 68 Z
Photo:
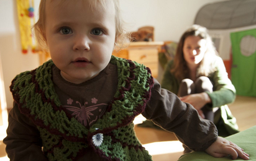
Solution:
M 186 103 L 190 103 L 196 110 L 199 110 L 206 105 L 206 103 L 211 103 L 211 98 L 206 92 L 200 94 L 191 94 L 184 97 L 180 97 L 180 100 Z

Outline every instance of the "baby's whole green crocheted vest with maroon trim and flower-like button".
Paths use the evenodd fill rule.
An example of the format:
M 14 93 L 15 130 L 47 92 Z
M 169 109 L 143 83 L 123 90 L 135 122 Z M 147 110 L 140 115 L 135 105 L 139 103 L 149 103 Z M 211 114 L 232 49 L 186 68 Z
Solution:
M 117 91 L 105 115 L 89 129 L 62 107 L 53 87 L 52 60 L 12 81 L 14 100 L 39 129 L 48 160 L 76 160 L 87 147 L 107 160 L 152 160 L 135 136 L 132 123 L 150 98 L 150 70 L 114 56 L 110 63 L 117 66 Z

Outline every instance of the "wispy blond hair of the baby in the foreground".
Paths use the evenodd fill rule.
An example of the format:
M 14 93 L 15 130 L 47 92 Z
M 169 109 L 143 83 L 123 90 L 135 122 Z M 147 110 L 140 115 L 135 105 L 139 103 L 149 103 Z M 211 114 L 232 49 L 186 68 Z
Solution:
M 35 33 L 35 38 L 39 44 L 40 50 L 48 51 L 48 46 L 45 40 L 45 4 L 46 1 L 50 0 L 41 0 L 39 6 L 39 20 L 35 23 L 33 29 Z M 65 0 L 63 0 L 65 1 Z M 67 0 L 66 0 L 67 1 Z M 100 5 L 105 9 L 105 1 L 106 0 L 84 0 L 89 1 L 91 7 L 96 7 Z M 114 3 L 115 11 L 116 11 L 116 43 L 115 45 L 119 48 L 123 48 L 127 46 L 127 43 L 130 42 L 130 33 L 127 32 L 125 26 L 125 22 L 121 17 L 121 11 L 119 7 L 119 0 L 111 0 Z

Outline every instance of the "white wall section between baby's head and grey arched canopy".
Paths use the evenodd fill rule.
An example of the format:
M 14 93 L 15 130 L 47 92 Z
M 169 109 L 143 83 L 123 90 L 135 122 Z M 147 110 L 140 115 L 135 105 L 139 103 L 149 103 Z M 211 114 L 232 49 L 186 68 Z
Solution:
M 152 25 L 155 41 L 178 41 L 202 6 L 219 1 L 225 0 L 120 0 L 120 5 L 131 31 Z

